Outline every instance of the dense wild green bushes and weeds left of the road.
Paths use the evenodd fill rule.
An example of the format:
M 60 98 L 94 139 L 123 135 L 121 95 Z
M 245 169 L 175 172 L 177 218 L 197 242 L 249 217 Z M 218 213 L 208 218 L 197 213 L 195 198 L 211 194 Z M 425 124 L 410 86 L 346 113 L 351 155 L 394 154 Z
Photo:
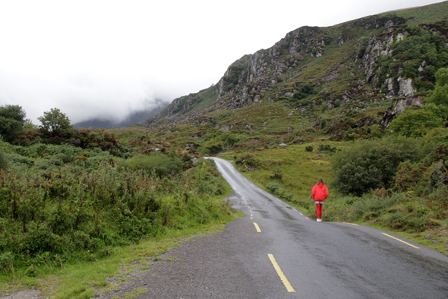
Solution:
M 227 204 L 210 199 L 224 192 L 213 163 L 162 179 L 105 161 L 90 172 L 69 165 L 41 174 L 0 172 L 0 260 L 14 256 L 14 266 L 31 267 L 45 252 L 50 259 L 94 259 L 167 229 L 230 217 Z

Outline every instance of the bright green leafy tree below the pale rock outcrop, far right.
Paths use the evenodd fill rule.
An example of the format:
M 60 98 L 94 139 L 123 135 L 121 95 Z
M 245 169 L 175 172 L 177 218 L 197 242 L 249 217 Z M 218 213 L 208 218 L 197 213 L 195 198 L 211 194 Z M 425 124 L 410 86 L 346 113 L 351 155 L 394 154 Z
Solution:
M 408 108 L 390 123 L 389 129 L 395 134 L 416 137 L 443 124 L 443 119 L 431 110 Z

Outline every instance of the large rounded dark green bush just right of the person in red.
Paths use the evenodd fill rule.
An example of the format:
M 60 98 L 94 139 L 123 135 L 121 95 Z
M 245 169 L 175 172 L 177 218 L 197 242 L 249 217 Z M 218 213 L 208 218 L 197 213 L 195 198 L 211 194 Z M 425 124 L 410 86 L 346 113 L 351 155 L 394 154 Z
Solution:
M 390 188 L 398 165 L 423 157 L 421 144 L 413 138 L 389 136 L 357 140 L 333 156 L 332 185 L 345 194 L 362 195 L 371 189 Z

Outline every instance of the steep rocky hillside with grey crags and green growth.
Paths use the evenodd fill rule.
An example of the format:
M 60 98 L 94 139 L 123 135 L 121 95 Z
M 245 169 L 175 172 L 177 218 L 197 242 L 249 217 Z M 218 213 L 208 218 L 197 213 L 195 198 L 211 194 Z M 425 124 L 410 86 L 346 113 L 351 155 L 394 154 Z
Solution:
M 448 2 L 330 27 L 304 26 L 233 62 L 215 85 L 172 101 L 147 128 L 210 125 L 345 134 L 419 105 L 448 66 Z

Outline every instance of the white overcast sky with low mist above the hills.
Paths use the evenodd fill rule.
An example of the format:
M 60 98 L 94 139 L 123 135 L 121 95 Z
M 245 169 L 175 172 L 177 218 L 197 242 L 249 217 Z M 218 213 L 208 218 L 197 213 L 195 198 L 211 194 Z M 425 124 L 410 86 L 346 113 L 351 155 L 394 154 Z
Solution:
M 124 117 L 217 83 L 245 54 L 301 26 L 332 26 L 431 0 L 0 0 L 0 105 L 72 124 Z

